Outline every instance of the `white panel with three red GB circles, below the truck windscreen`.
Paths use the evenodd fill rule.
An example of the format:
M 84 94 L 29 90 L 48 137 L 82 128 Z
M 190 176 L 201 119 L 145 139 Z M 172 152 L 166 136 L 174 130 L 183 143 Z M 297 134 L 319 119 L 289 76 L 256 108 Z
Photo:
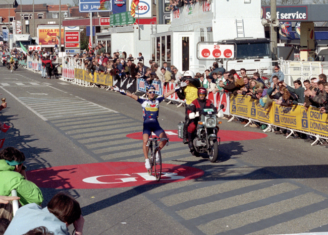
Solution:
M 234 58 L 234 44 L 198 44 L 198 58 Z

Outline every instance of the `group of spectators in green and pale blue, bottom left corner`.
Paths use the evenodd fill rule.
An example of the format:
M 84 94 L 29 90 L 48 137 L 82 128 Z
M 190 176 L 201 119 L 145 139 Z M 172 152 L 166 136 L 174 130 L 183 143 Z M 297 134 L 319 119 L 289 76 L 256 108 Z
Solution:
M 0 151 L 0 235 L 68 235 L 68 226 L 74 225 L 75 234 L 83 232 L 84 218 L 79 203 L 64 193 L 52 197 L 42 209 L 41 190 L 28 181 L 25 155 L 7 147 Z M 12 190 L 18 197 L 11 196 Z M 21 207 L 13 217 L 13 200 Z

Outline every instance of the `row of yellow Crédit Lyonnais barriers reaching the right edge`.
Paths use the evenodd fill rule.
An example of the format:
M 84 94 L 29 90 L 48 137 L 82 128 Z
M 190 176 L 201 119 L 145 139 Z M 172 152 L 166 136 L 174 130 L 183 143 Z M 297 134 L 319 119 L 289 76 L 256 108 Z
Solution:
M 319 108 L 310 106 L 306 110 L 302 104 L 285 107 L 273 102 L 265 110 L 256 99 L 251 96 L 231 95 L 230 113 L 249 121 L 285 128 L 294 132 L 301 132 L 319 138 L 328 139 L 328 114 L 321 113 Z M 289 135 L 289 136 L 290 136 Z M 288 137 L 289 137 L 288 136 Z

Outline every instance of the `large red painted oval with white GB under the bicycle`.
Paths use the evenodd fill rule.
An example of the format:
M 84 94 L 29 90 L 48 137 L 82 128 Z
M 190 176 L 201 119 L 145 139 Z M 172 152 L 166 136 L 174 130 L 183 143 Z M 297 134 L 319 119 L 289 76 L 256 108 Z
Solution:
M 144 162 L 101 162 L 55 166 L 27 172 L 29 181 L 40 188 L 106 189 L 135 187 L 188 181 L 201 177 L 204 171 L 183 165 L 162 164 L 159 182 L 149 175 Z

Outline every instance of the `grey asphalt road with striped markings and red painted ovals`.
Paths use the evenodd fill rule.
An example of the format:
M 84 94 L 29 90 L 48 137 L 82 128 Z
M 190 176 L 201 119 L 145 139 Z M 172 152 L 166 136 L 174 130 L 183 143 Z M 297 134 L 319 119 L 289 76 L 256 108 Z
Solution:
M 162 158 L 176 180 L 156 183 L 144 174 L 142 141 L 127 137 L 142 131 L 135 100 L 41 79 L 21 67 L 13 74 L 0 67 L 0 73 L 1 97 L 8 102 L 1 122 L 11 126 L 0 134 L 4 147 L 25 153 L 27 176 L 41 188 L 43 206 L 61 191 L 80 202 L 84 234 L 328 231 L 324 146 L 274 133 L 259 138 L 259 129 L 222 120 L 227 141 L 218 162 L 196 158 L 187 145 L 172 141 Z M 183 120 L 183 107 L 161 103 L 163 129 L 172 132 Z

